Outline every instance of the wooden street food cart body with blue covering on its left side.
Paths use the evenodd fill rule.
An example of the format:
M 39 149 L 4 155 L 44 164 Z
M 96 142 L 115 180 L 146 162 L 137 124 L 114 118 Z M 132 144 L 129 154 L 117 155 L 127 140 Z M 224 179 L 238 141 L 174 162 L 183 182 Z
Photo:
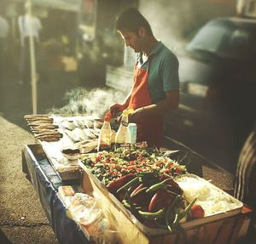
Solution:
M 40 135 L 40 137 L 43 138 L 43 135 Z M 48 136 L 47 138 L 49 139 Z M 54 162 L 61 158 L 61 154 L 58 156 L 60 146 L 62 147 L 68 143 L 70 141 L 65 139 L 65 136 L 59 143 L 39 141 L 38 145 L 26 145 L 22 154 L 23 171 L 27 178 L 31 179 L 37 190 L 44 212 L 49 218 L 49 223 L 55 230 L 55 235 L 60 243 L 95 243 L 93 242 L 95 239 L 92 238 L 95 236 L 90 235 L 85 225 L 75 223 L 67 217 L 70 216 L 69 210 L 67 211 L 69 209 L 67 202 L 61 196 L 60 191 L 58 192 L 61 185 L 71 185 L 76 192 L 90 193 L 91 190 L 96 192 L 97 197 L 99 197 L 97 199 L 102 204 L 102 209 L 107 209 L 115 217 L 112 218 L 112 224 L 116 228 L 115 231 L 119 235 L 119 240 L 121 240 L 115 243 L 184 243 L 183 239 L 179 239 L 175 233 L 170 234 L 170 232 L 166 233 L 165 231 L 161 233 L 152 228 L 145 228 L 124 209 L 125 207 L 122 207 L 117 198 L 108 192 L 105 185 L 97 180 L 95 175 L 91 174 L 84 167 L 84 164 L 80 163 L 81 161 L 79 161 L 79 170 L 73 168 L 73 171 L 63 174 L 61 168 L 61 173 L 58 172 L 60 167 Z M 172 159 L 183 162 L 189 173 L 211 180 L 213 184 L 221 189 L 230 190 L 232 177 L 229 173 L 211 162 L 207 162 L 205 158 L 184 145 L 166 138 L 161 150 L 168 150 Z M 68 162 L 61 164 L 66 167 L 78 167 L 78 165 L 69 165 Z M 75 175 L 75 177 L 71 175 Z M 201 218 L 185 222 L 183 228 L 186 231 L 189 243 L 236 243 L 237 240 L 246 235 L 250 222 L 250 210 L 242 207 L 242 204 L 239 205 L 239 201 L 237 201 L 237 204 L 239 209 L 235 207 L 232 211 L 218 214 L 217 218 L 214 216 L 214 218 Z M 130 231 L 127 232 L 127 230 Z M 153 232 L 154 235 L 151 235 Z M 109 243 L 113 243 L 113 241 Z

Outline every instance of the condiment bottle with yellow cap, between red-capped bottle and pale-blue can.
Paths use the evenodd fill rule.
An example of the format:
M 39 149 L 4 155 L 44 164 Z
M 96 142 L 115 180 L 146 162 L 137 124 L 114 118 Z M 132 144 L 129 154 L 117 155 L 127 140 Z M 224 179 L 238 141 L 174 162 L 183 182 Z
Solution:
M 114 140 L 114 148 L 117 149 L 121 145 L 128 143 L 128 115 L 129 111 L 123 111 L 122 120 Z

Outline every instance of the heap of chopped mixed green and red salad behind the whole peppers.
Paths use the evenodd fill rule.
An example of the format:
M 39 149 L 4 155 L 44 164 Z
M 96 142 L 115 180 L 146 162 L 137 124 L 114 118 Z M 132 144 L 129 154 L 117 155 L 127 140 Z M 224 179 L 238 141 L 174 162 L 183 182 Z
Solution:
M 105 185 L 128 173 L 154 173 L 163 179 L 164 176 L 187 173 L 185 166 L 179 165 L 164 156 L 164 153 L 152 148 L 119 148 L 115 151 L 84 155 L 80 160 Z

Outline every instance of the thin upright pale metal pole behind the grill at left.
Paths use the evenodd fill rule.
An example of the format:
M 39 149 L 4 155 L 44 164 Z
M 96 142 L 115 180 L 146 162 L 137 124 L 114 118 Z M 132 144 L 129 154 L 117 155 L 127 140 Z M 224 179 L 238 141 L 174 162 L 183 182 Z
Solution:
M 32 5 L 31 1 L 28 4 L 29 14 L 29 48 L 30 48 L 30 64 L 31 64 L 31 84 L 32 84 L 32 113 L 38 113 L 38 88 L 37 88 L 37 71 L 36 71 L 36 56 L 35 56 L 35 43 L 32 37 Z

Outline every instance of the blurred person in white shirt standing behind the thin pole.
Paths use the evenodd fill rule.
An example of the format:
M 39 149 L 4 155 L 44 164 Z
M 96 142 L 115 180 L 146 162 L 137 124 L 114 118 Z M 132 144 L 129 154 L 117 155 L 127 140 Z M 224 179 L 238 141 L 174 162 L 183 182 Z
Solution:
M 25 4 L 26 14 L 20 16 L 18 19 L 18 26 L 20 30 L 20 45 L 21 45 L 21 54 L 20 54 L 20 84 L 30 81 L 30 72 L 31 72 L 31 60 L 30 60 L 30 26 L 31 26 L 31 35 L 34 40 L 35 54 L 37 57 L 38 53 L 38 44 L 39 44 L 39 31 L 41 31 L 42 26 L 40 20 L 33 15 L 29 14 L 29 3 Z M 31 24 L 30 24 L 31 21 Z

